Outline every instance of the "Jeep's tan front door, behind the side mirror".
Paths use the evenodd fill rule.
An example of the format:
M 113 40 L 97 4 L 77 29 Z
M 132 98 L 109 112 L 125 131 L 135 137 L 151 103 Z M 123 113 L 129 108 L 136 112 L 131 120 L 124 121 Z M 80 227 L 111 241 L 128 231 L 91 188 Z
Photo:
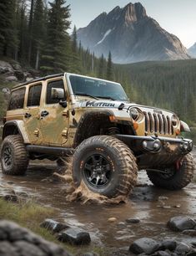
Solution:
M 48 79 L 43 88 L 40 110 L 39 142 L 42 145 L 63 146 L 68 140 L 68 104 L 62 106 L 53 99 L 53 89 L 63 90 L 64 99 L 68 97 L 63 78 Z

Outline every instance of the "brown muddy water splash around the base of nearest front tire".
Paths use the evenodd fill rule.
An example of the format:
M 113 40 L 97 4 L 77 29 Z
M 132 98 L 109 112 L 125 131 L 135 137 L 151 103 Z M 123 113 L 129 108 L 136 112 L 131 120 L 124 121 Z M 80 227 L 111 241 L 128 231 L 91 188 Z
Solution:
M 79 201 L 82 204 L 86 203 L 97 203 L 97 204 L 119 204 L 128 202 L 126 196 L 118 196 L 113 198 L 108 198 L 106 196 L 100 195 L 96 192 L 92 192 L 88 189 L 87 185 L 82 181 L 79 187 L 75 187 L 72 176 L 72 162 L 73 158 L 68 157 L 62 159 L 64 166 L 60 167 L 60 173 L 54 172 L 53 175 L 63 179 L 68 185 L 66 189 L 67 196 L 65 197 L 67 202 Z

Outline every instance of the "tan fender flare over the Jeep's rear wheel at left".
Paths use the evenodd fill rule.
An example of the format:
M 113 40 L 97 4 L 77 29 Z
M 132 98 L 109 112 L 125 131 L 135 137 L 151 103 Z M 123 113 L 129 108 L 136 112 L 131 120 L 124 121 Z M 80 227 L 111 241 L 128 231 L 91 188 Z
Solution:
M 15 127 L 18 130 L 18 133 L 23 137 L 24 143 L 29 144 L 30 141 L 29 141 L 29 137 L 28 137 L 28 132 L 25 128 L 23 120 L 9 120 L 9 121 L 7 121 L 5 123 L 5 125 L 3 126 L 3 139 L 6 136 L 9 136 L 9 135 L 13 134 L 12 132 L 9 132 L 9 130 L 8 130 L 12 126 L 13 126 L 13 128 Z

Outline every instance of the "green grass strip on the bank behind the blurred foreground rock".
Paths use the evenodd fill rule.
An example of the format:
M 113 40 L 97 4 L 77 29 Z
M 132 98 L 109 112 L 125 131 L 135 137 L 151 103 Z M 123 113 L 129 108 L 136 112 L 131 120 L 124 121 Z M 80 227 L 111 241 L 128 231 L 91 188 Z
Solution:
M 30 229 L 33 233 L 40 235 L 44 239 L 58 243 L 58 245 L 65 248 L 69 253 L 94 252 L 99 253 L 100 256 L 107 255 L 105 248 L 99 248 L 93 245 L 78 247 L 60 243 L 50 231 L 46 228 L 40 228 L 40 223 L 42 223 L 45 218 L 55 219 L 56 215 L 57 211 L 52 207 L 43 207 L 35 202 L 6 202 L 0 198 L 0 219 L 7 219 L 18 223 L 23 228 Z

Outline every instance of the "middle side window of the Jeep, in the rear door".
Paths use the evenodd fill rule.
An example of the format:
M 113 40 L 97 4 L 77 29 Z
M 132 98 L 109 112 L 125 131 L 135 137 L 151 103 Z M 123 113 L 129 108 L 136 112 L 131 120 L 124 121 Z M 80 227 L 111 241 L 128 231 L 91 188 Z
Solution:
M 30 87 L 28 91 L 28 106 L 40 105 L 42 84 L 36 84 Z

